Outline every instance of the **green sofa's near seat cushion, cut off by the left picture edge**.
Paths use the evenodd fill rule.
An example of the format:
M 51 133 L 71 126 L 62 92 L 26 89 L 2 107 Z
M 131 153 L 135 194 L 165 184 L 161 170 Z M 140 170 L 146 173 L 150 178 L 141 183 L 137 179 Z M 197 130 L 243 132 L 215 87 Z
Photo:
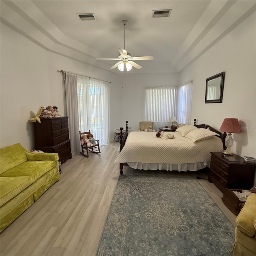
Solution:
M 14 198 L 31 183 L 29 176 L 0 177 L 0 206 Z

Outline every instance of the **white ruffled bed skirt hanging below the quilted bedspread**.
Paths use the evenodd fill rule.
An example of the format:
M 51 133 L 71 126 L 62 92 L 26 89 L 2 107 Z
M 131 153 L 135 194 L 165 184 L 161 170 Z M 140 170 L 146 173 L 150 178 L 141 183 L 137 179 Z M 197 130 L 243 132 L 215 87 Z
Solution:
M 186 171 L 197 171 L 205 168 L 206 166 L 210 167 L 210 162 L 200 162 L 200 163 L 189 163 L 189 164 L 152 164 L 152 163 L 136 163 L 128 162 L 127 163 L 133 169 L 139 170 L 168 170 L 174 171 L 178 170 L 179 172 Z

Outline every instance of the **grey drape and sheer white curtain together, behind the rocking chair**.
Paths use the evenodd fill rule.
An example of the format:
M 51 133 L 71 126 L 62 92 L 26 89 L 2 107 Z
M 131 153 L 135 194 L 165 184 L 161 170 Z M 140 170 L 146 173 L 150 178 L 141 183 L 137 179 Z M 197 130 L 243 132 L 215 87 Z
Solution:
M 81 150 L 79 131 L 91 131 L 100 145 L 109 143 L 109 84 L 72 72 L 64 72 L 65 115 L 69 116 L 71 153 Z

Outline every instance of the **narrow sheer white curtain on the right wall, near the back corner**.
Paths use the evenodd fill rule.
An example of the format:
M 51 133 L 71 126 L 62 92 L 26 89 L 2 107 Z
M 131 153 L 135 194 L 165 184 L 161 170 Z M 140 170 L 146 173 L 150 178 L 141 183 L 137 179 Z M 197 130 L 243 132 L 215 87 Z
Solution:
M 188 81 L 178 88 L 178 123 L 191 122 L 192 89 L 193 81 Z

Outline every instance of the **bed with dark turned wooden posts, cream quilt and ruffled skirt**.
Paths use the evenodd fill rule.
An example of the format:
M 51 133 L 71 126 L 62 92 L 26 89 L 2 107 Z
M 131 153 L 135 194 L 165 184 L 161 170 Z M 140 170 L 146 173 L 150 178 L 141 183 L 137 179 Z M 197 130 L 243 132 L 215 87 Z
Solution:
M 196 131 L 190 134 L 211 131 L 215 135 L 193 142 L 194 138 L 190 138 L 190 134 L 182 136 L 184 134 L 176 131 L 171 132 L 173 139 L 163 140 L 156 137 L 156 132 L 128 134 L 126 121 L 126 129 L 120 128 L 120 154 L 115 160 L 120 165 L 120 174 L 123 174 L 124 165 L 139 170 L 169 171 L 196 171 L 210 166 L 210 152 L 222 152 L 225 149 L 226 133 L 223 134 L 207 124 L 196 125 L 196 119 L 193 130 Z

